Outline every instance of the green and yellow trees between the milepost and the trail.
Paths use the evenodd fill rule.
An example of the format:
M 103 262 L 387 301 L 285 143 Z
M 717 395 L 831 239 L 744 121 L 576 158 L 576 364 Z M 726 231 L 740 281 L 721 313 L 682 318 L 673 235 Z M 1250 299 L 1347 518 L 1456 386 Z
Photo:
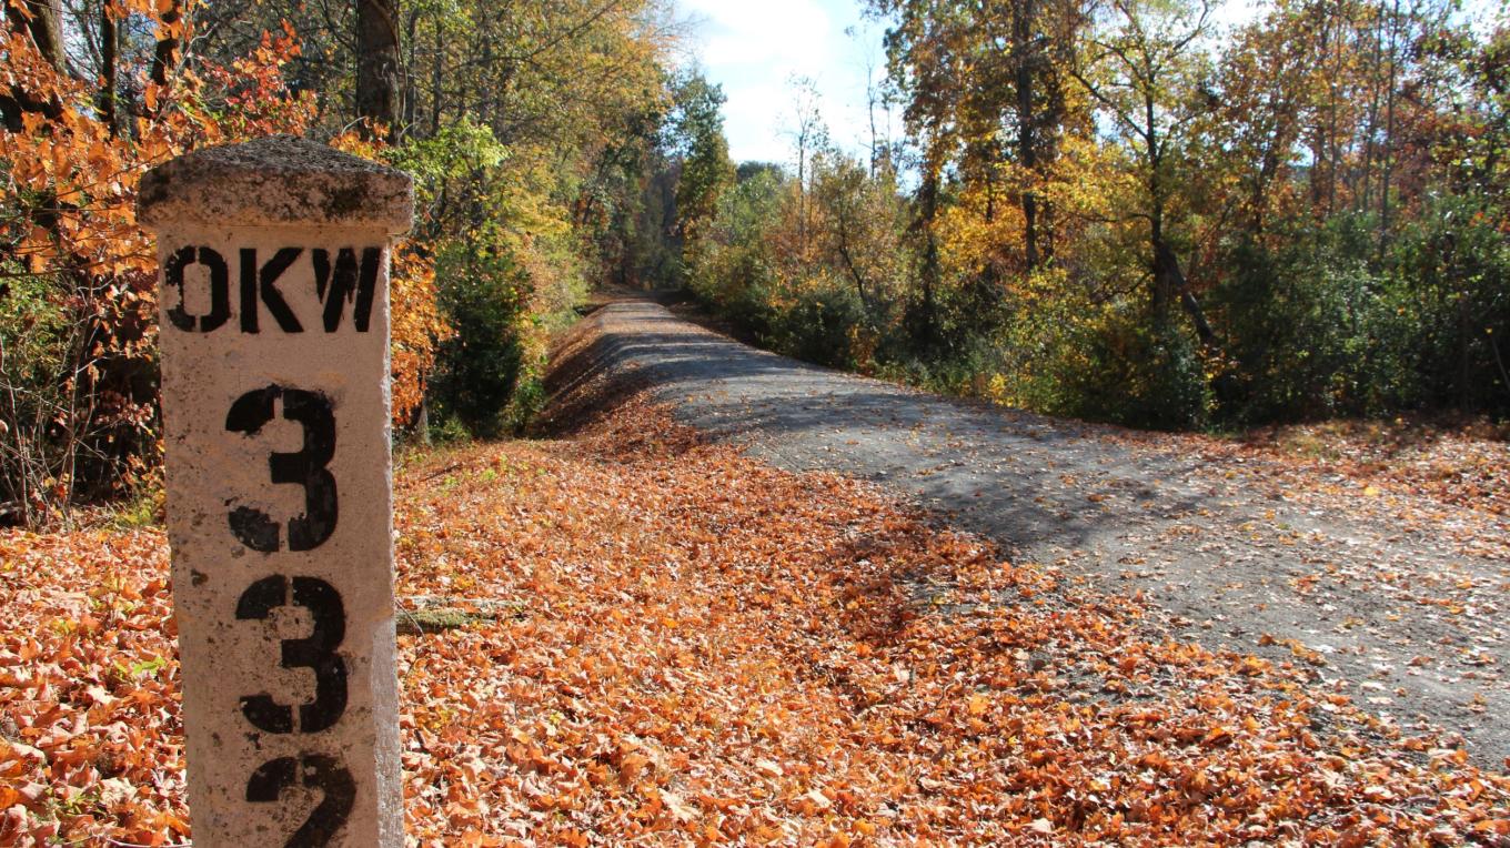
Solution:
M 598 279 L 666 270 L 663 222 L 642 210 L 666 205 L 651 183 L 675 26 L 649 0 L 248 3 L 201 23 L 211 50 L 234 51 L 255 29 L 245 18 L 281 17 L 308 47 L 293 71 L 323 131 L 356 119 L 384 142 L 373 155 L 418 178 L 409 244 L 450 327 L 417 386 L 436 427 L 522 424 L 542 400 L 550 323 Z

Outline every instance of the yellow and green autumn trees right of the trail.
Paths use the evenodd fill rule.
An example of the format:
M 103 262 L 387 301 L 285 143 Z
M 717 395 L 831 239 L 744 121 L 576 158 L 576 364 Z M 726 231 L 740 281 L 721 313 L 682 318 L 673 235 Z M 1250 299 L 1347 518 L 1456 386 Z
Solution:
M 1484 12 L 1484 5 L 1475 5 Z M 1450 0 L 871 0 L 906 137 L 725 167 L 690 287 L 779 350 L 1149 427 L 1510 413 L 1510 30 Z M 873 121 L 873 125 L 885 121 Z

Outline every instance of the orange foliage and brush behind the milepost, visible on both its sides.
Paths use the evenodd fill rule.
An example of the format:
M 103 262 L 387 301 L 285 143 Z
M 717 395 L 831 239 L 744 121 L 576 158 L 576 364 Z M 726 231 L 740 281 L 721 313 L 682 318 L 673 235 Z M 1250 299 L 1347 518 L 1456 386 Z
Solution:
M 23 6 L 9 20 L 26 21 Z M 100 20 L 177 45 L 192 36 L 177 11 L 112 2 Z M 56 50 L 12 26 L 0 65 L 17 124 L 0 131 L 0 504 L 32 524 L 157 471 L 157 253 L 136 223 L 142 174 L 195 148 L 304 133 L 316 106 L 284 77 L 300 56 L 288 24 L 223 63 L 143 50 L 112 66 L 125 71 L 115 86 L 69 72 Z M 393 303 L 394 416 L 408 421 L 445 332 L 429 260 L 400 253 Z

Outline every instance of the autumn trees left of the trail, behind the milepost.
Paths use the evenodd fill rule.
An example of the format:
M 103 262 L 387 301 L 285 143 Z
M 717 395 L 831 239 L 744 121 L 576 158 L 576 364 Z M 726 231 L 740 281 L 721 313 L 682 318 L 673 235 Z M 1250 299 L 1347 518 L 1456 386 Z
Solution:
M 140 174 L 296 133 L 417 178 L 394 424 L 494 435 L 598 279 L 675 264 L 675 26 L 655 0 L 9 0 L 0 53 L 0 522 L 151 490 Z M 667 217 L 672 216 L 672 217 Z

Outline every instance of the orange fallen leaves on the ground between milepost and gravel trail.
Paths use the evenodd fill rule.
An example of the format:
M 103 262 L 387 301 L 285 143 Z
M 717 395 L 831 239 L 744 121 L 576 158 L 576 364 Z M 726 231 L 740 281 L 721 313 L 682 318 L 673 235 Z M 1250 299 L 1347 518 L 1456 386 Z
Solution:
M 515 471 L 482 484 L 500 451 Z M 479 650 L 509 646 L 492 667 L 447 665 L 461 676 L 448 688 L 486 681 L 512 697 L 456 735 L 488 747 L 489 726 L 554 729 L 571 767 L 497 770 L 500 803 L 477 825 L 491 833 L 1367 842 L 1444 822 L 1466 834 L 1504 807 L 1504 779 L 1357 742 L 1379 727 L 1267 661 L 1149 643 L 1136 605 L 1068 598 L 1043 569 L 930 530 L 862 484 L 696 444 L 639 403 L 566 453 L 435 462 L 458 465 L 458 483 L 406 492 L 409 522 L 492 510 L 506 527 L 409 548 L 406 573 L 465 570 L 474 591 L 536 610 L 471 631 Z M 476 558 L 489 549 L 519 558 Z M 1348 756 L 1332 754 L 1342 739 Z M 444 774 L 442 757 L 424 762 Z M 1498 795 L 1441 801 L 1466 774 Z M 548 800 L 518 803 L 509 786 L 536 782 L 551 788 L 522 797 Z M 456 825 L 421 807 L 412 831 L 451 839 Z

